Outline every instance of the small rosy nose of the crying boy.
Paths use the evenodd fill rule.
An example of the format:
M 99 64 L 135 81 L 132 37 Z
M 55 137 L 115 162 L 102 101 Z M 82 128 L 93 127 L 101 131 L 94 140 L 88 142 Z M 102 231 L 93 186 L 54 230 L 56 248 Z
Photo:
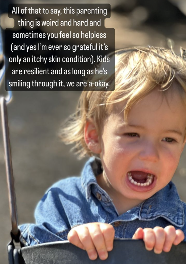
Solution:
M 159 157 L 159 152 L 158 152 L 158 148 L 156 144 L 152 142 L 144 143 L 143 148 L 139 153 L 139 158 L 141 160 L 158 162 L 160 157 Z

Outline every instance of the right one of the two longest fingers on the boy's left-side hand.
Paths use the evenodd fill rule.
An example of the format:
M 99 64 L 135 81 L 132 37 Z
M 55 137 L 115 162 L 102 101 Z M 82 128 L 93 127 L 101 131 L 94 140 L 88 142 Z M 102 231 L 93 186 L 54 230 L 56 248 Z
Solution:
M 101 229 L 99 228 L 99 225 L 94 224 L 90 226 L 89 233 L 92 238 L 93 244 L 97 250 L 99 258 L 101 260 L 106 260 L 106 258 L 108 257 L 108 252 L 105 245 L 105 239 L 103 237 Z

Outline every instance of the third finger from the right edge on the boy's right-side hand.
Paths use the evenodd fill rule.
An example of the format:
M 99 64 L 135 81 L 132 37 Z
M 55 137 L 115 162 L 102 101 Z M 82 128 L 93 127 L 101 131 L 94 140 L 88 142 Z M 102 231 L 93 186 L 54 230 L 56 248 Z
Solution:
M 155 227 L 153 230 L 155 233 L 154 252 L 156 254 L 160 254 L 164 247 L 166 233 L 165 233 L 164 228 L 162 227 Z

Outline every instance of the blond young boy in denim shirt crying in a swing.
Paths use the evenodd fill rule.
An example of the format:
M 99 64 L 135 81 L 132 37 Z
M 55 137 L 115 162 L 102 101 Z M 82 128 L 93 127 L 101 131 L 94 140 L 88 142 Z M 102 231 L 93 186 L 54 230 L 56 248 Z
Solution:
M 171 182 L 185 134 L 184 59 L 163 48 L 116 51 L 115 90 L 83 91 L 62 131 L 80 156 L 93 157 L 81 177 L 46 192 L 36 224 L 20 226 L 22 241 L 68 239 L 91 260 L 105 260 L 114 237 L 143 239 L 147 250 L 169 252 L 186 234 L 186 204 Z

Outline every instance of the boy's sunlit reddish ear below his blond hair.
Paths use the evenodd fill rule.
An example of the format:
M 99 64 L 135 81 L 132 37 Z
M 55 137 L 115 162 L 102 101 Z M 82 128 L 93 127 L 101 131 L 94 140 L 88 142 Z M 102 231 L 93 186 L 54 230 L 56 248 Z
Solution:
M 101 153 L 101 145 L 99 142 L 98 129 L 92 120 L 87 120 L 84 128 L 84 140 L 87 147 L 94 153 Z

